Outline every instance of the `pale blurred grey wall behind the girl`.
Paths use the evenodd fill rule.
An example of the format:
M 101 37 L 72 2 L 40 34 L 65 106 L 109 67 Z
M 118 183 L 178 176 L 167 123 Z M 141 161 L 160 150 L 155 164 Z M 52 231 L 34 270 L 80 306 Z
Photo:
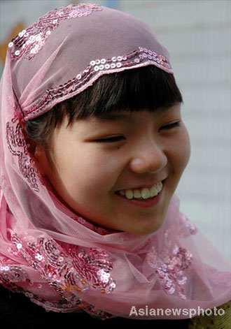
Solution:
M 230 261 L 230 1 L 1 0 L 1 68 L 11 39 L 49 10 L 98 3 L 134 15 L 157 33 L 183 94 L 191 158 L 176 194 L 181 211 Z

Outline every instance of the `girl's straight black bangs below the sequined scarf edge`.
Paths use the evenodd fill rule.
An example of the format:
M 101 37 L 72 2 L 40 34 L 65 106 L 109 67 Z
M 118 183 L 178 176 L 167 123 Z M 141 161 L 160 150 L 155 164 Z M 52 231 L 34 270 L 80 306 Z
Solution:
M 78 119 L 100 117 L 105 112 L 161 111 L 183 103 L 174 75 L 148 65 L 102 75 L 80 94 L 55 105 L 55 125 L 64 113 L 69 124 Z M 69 125 L 68 124 L 68 125 Z

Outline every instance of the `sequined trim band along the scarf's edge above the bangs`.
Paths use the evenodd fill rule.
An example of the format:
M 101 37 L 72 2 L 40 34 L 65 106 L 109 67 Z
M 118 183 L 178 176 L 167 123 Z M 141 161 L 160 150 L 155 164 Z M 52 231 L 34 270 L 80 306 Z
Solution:
M 172 73 L 169 61 L 161 54 L 157 54 L 146 48 L 139 47 L 130 54 L 114 56 L 111 59 L 94 59 L 85 69 L 73 78 L 55 88 L 47 89 L 45 94 L 29 110 L 24 110 L 25 120 L 38 117 L 52 108 L 53 105 L 71 98 L 93 84 L 100 75 L 124 71 L 128 68 L 138 68 L 153 64 L 164 71 Z

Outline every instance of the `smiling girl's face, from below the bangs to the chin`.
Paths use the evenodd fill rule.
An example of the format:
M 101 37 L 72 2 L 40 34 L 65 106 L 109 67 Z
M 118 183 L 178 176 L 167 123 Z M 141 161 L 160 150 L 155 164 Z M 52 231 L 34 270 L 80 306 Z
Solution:
M 190 158 L 180 105 L 159 113 L 124 111 L 81 119 L 66 128 L 67 123 L 65 117 L 52 136 L 55 168 L 43 149 L 37 147 L 35 153 L 57 198 L 99 226 L 137 235 L 158 230 Z M 116 193 L 162 180 L 155 205 L 135 204 Z

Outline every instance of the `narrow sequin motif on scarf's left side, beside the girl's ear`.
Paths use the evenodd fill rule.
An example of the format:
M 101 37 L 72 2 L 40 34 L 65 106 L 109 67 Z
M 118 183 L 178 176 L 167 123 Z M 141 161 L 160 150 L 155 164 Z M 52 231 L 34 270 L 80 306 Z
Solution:
M 13 118 L 12 123 L 7 122 L 6 124 L 6 141 L 11 154 L 18 157 L 18 166 L 22 176 L 25 177 L 30 187 L 38 192 L 37 177 L 40 176 L 36 166 L 34 166 L 34 161 L 27 151 L 29 145 L 25 141 L 22 127 L 19 122 L 17 123 L 17 118 Z

